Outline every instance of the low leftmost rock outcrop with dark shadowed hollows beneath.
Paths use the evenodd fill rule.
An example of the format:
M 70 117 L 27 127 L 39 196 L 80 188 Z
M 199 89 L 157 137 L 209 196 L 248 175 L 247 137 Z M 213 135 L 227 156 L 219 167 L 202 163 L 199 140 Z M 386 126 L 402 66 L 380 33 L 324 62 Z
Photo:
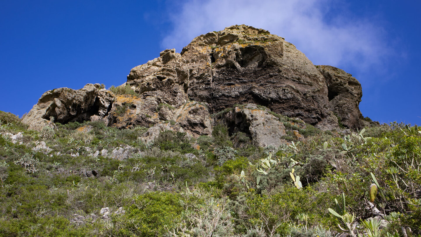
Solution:
M 50 120 L 66 124 L 104 118 L 111 109 L 114 94 L 99 84 L 86 84 L 82 89 L 53 89 L 45 92 L 38 103 L 22 119 L 29 129 L 41 130 Z

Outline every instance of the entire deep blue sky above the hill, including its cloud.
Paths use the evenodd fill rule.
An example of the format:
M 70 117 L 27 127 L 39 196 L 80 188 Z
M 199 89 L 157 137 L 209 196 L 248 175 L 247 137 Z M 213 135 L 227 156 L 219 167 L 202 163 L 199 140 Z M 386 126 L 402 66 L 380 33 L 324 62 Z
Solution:
M 47 90 L 107 88 L 195 36 L 248 24 L 362 84 L 360 110 L 421 124 L 421 1 L 0 1 L 0 110 L 22 116 Z

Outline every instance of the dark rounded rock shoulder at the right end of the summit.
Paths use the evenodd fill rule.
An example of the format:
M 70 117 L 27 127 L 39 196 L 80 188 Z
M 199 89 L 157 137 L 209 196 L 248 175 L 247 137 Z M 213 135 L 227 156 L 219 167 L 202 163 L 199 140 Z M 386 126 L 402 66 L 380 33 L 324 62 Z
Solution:
M 368 123 L 360 112 L 362 88 L 351 74 L 336 67 L 317 66 L 328 86 L 329 110 L 341 118 L 341 124 L 350 129 L 361 129 Z

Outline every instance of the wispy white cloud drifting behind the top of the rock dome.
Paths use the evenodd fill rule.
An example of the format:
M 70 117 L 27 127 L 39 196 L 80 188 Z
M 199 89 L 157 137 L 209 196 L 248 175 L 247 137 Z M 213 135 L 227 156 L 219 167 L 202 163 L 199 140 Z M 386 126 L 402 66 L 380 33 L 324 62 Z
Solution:
M 166 48 L 186 46 L 197 35 L 247 24 L 297 46 L 315 65 L 359 68 L 381 65 L 391 50 L 381 27 L 357 18 L 334 0 L 189 0 L 170 16 Z M 329 7 L 330 6 L 330 7 Z M 335 7 L 335 8 L 332 8 Z

